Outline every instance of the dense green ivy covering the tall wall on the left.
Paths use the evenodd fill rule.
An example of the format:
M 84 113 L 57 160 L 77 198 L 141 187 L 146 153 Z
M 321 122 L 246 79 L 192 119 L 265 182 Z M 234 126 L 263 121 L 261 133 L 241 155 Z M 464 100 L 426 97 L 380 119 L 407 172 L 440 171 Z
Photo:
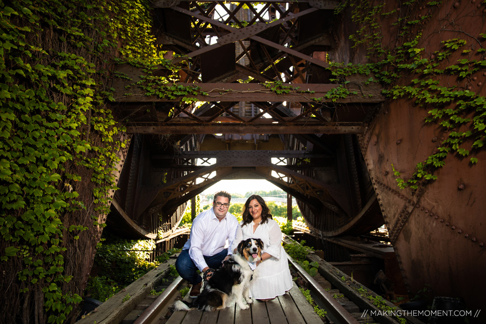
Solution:
M 114 56 L 156 52 L 148 6 L 0 3 L 0 285 L 11 297 L 0 322 L 64 323 L 81 300 L 124 146 L 105 80 Z

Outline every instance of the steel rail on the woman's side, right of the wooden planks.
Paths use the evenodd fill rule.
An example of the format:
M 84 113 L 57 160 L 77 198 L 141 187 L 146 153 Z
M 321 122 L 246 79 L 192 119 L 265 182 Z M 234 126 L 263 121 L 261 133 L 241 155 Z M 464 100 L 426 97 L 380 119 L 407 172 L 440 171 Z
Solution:
M 328 312 L 328 316 L 331 320 L 335 321 L 335 323 L 348 323 L 348 324 L 358 324 L 359 322 L 349 313 L 341 304 L 338 303 L 337 300 L 332 298 L 329 292 L 324 290 L 321 285 L 317 281 L 315 281 L 312 276 L 307 273 L 295 260 L 287 255 L 289 262 L 292 266 L 304 277 L 311 284 L 311 289 L 314 293 L 316 293 L 321 300 L 321 302 L 325 305 L 326 310 Z

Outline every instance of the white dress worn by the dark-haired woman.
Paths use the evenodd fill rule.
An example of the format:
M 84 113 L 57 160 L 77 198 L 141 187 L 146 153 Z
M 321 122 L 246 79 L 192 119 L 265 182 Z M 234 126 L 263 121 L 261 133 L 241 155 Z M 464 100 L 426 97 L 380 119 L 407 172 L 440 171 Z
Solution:
M 250 297 L 256 299 L 274 298 L 285 294 L 294 285 L 289 270 L 287 254 L 282 246 L 282 232 L 278 223 L 268 219 L 267 223 L 258 225 L 253 233 L 253 222 L 241 227 L 238 226 L 235 246 L 242 239 L 261 239 L 263 241 L 263 252 L 272 257 L 261 262 L 253 272 L 253 279 L 250 281 Z

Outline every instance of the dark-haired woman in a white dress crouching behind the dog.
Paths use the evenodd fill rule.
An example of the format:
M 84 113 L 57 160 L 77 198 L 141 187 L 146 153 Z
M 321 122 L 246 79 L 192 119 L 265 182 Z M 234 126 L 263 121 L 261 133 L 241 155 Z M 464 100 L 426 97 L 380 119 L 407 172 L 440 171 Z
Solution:
M 282 232 L 259 195 L 252 195 L 246 200 L 243 221 L 234 242 L 238 244 L 242 239 L 250 238 L 261 239 L 264 251 L 250 281 L 250 297 L 267 302 L 285 294 L 294 283 L 282 247 Z

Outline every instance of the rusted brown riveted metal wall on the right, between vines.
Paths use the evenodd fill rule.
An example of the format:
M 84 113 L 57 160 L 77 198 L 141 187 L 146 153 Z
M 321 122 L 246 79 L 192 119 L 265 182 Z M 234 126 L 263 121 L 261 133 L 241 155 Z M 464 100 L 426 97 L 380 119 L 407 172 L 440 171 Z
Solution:
M 481 45 L 476 37 L 485 31 L 484 4 L 474 0 L 442 2 L 421 30 L 416 47 L 425 49 L 424 58 L 441 50 L 441 40 L 457 37 L 467 39 L 475 48 Z M 390 9 L 400 7 L 398 1 L 387 5 Z M 425 5 L 417 4 L 413 14 L 418 17 L 420 10 L 424 14 L 423 8 Z M 346 21 L 341 28 L 343 37 L 349 32 Z M 382 42 L 391 43 L 396 34 L 386 23 L 383 21 Z M 448 64 L 464 58 L 461 54 L 454 54 Z M 365 63 L 363 52 L 344 45 L 331 56 L 337 61 Z M 480 70 L 461 82 L 485 96 L 483 73 Z M 441 82 L 450 81 L 451 85 L 457 83 Z M 418 190 L 399 189 L 392 163 L 403 177 L 409 177 L 416 164 L 434 153 L 448 136 L 436 124 L 425 123 L 426 116 L 427 110 L 411 100 L 388 100 L 360 137 L 362 152 L 409 293 L 414 296 L 430 285 L 435 296 L 460 296 L 469 309 L 477 309 L 484 305 L 486 288 L 482 279 L 486 269 L 486 153 L 475 153 L 479 160 L 476 166 L 469 158 L 450 154 L 446 165 L 435 171 L 437 180 L 422 182 Z

